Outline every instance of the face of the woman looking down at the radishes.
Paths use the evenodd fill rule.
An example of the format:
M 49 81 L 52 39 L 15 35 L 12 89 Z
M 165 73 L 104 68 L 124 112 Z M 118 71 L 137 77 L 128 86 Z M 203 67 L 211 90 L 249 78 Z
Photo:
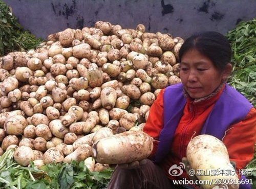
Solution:
M 196 49 L 184 53 L 180 66 L 181 82 L 193 99 L 210 95 L 228 76 L 227 72 L 221 73 L 209 58 Z

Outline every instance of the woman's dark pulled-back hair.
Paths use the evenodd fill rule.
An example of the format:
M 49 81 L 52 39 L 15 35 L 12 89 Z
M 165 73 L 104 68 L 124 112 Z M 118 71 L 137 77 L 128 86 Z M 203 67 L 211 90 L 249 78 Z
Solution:
M 180 48 L 179 60 L 181 61 L 185 52 L 192 49 L 209 58 L 220 72 L 231 60 L 230 44 L 227 38 L 218 32 L 202 32 L 187 38 Z

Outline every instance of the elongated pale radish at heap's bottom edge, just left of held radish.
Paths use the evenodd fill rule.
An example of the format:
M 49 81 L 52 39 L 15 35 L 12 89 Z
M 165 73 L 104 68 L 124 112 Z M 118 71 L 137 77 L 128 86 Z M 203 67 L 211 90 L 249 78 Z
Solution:
M 90 157 L 91 155 L 92 155 L 92 147 L 87 144 L 84 144 L 79 146 L 73 153 L 66 156 L 63 159 L 63 162 L 70 163 L 71 160 L 80 162 Z

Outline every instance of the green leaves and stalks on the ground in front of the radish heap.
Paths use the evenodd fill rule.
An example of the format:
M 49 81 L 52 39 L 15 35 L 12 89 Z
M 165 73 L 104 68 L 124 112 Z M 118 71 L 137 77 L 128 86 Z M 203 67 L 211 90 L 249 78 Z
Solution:
M 84 161 L 50 163 L 38 169 L 31 161 L 30 167 L 22 167 L 14 162 L 15 149 L 6 151 L 0 157 L 0 188 L 11 189 L 75 189 L 106 188 L 112 169 L 91 172 Z

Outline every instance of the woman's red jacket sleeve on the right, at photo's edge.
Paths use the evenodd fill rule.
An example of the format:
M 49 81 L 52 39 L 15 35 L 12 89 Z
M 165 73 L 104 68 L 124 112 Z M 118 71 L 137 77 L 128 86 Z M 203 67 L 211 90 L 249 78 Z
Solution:
M 251 108 L 245 119 L 229 127 L 223 138 L 227 147 L 229 159 L 236 162 L 239 171 L 251 161 L 254 155 L 256 138 L 256 110 Z

